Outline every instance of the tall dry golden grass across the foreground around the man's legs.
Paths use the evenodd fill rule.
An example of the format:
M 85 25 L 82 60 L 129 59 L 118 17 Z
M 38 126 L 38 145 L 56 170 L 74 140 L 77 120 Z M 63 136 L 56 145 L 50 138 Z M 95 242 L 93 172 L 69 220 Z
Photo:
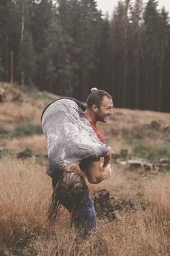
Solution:
M 61 209 L 53 229 L 45 223 L 52 193 L 45 162 L 35 158 L 25 161 L 4 158 L 0 173 L 0 255 L 168 256 L 170 253 L 169 174 L 137 179 L 136 174 L 115 170 L 115 179 L 113 176 L 108 182 L 109 190 L 113 189 L 117 196 L 122 196 L 123 191 L 124 196 L 133 197 L 140 192 L 149 205 L 143 210 L 136 201 L 135 210 L 117 212 L 116 221 L 99 220 L 97 233 L 86 242 L 75 244 L 66 210 Z

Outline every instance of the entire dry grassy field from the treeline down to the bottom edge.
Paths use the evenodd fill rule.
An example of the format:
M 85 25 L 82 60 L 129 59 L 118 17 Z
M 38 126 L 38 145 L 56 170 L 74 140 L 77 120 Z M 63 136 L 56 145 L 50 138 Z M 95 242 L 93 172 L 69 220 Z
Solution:
M 119 202 L 116 219 L 100 216 L 97 234 L 74 244 L 64 208 L 53 228 L 46 222 L 52 188 L 40 115 L 54 98 L 8 85 L 8 97 L 0 103 L 0 255 L 170 255 L 170 170 L 158 165 L 161 158 L 170 159 L 170 114 L 115 108 L 108 124 L 99 124 L 118 159 L 112 159 L 111 178 L 88 185 L 91 195 L 107 189 Z M 120 164 L 132 158 L 155 168 Z

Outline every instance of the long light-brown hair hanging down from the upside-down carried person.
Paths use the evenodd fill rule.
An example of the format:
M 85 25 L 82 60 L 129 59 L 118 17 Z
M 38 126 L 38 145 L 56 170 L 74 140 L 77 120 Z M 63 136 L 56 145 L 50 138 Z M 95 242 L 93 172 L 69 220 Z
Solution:
M 63 171 L 60 181 L 55 185 L 48 208 L 50 226 L 55 223 L 58 209 L 63 205 L 71 213 L 71 226 L 81 201 L 86 197 L 86 182 L 81 172 Z

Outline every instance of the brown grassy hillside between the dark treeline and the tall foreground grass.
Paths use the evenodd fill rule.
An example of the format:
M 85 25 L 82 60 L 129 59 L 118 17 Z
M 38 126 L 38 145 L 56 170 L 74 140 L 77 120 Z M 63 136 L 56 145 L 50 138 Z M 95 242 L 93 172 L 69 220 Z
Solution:
M 26 148 L 47 153 L 45 136 L 38 126 L 43 108 L 57 98 L 60 97 L 51 93 L 41 93 L 35 89 L 23 92 L 6 85 L 6 99 L 0 103 L 1 147 L 12 153 Z M 26 129 L 27 125 L 30 132 Z M 100 123 L 98 127 L 115 153 L 120 153 L 121 148 L 131 150 L 135 139 L 152 145 L 168 146 L 170 142 L 170 114 L 166 113 L 115 107 L 108 124 Z M 27 137 L 23 140 L 24 135 Z M 131 144 L 127 144 L 128 139 L 132 140 Z

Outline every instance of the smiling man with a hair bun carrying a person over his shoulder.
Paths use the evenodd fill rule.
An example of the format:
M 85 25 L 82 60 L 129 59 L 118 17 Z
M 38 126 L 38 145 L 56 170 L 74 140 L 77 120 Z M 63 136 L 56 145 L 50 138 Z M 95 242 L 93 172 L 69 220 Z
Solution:
M 91 90 L 87 100 L 86 100 L 86 111 L 84 111 L 84 117 L 89 121 L 91 127 L 94 129 L 98 139 L 101 142 L 104 142 L 102 134 L 96 127 L 97 121 L 102 121 L 104 123 L 107 122 L 108 117 L 112 114 L 113 102 L 112 96 L 104 90 Z M 88 181 L 91 184 L 97 184 L 102 182 L 102 180 L 107 179 L 109 175 L 109 171 L 111 174 L 111 168 L 108 165 L 109 160 L 111 158 L 111 149 L 107 157 L 104 158 L 104 163 L 102 168 L 106 168 L 105 173 L 103 174 L 100 170 L 100 158 L 97 158 L 95 161 L 91 162 L 81 162 L 80 168 L 86 171 L 86 176 Z M 84 215 L 84 212 L 88 212 L 89 215 Z M 78 231 L 81 234 L 81 237 L 86 237 L 89 234 L 93 233 L 97 230 L 97 220 L 96 213 L 94 210 L 94 204 L 91 199 L 91 196 L 87 196 L 86 204 L 81 205 L 79 209 L 78 217 L 75 219 L 76 226 L 78 227 Z

